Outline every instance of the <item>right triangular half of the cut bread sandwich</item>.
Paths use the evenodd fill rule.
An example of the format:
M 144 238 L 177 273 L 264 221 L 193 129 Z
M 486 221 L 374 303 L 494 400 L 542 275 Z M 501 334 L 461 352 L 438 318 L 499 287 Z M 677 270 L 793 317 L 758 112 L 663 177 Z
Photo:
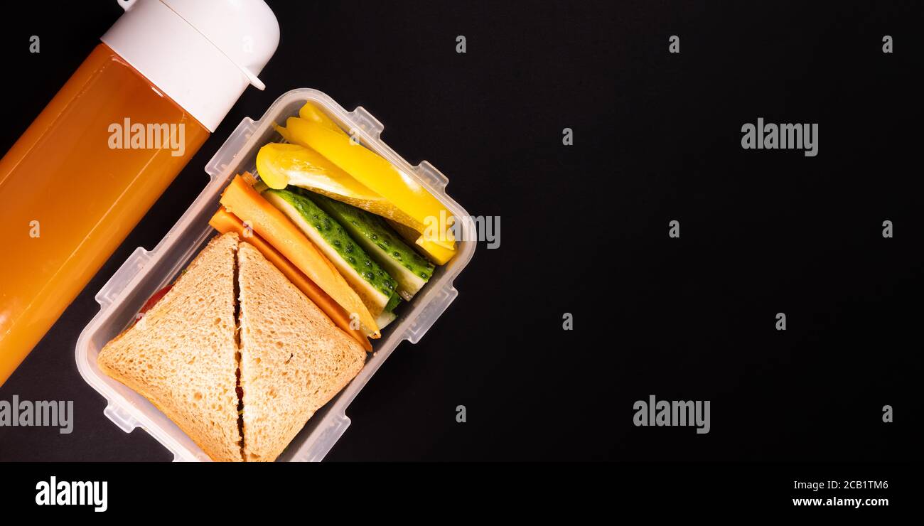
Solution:
M 273 461 L 366 351 L 246 241 L 237 250 L 244 459 Z

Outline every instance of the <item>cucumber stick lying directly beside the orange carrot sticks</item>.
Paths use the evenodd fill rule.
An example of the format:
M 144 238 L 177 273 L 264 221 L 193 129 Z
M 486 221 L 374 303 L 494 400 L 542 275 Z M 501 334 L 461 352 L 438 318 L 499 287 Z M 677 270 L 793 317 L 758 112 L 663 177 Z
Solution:
M 290 187 L 291 188 L 291 187 Z M 266 190 L 261 194 L 334 263 L 337 271 L 356 290 L 373 316 L 390 312 L 400 301 L 395 278 L 362 250 L 333 217 L 318 207 L 303 190 Z M 380 326 L 381 328 L 381 326 Z

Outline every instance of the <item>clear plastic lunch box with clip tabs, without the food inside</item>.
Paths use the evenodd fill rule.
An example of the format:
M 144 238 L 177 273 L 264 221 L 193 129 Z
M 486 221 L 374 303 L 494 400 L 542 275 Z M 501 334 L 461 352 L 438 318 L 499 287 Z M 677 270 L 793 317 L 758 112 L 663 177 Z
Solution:
M 205 243 L 215 235 L 209 219 L 218 210 L 218 199 L 232 177 L 255 171 L 257 151 L 271 141 L 282 141 L 273 123 L 285 125 L 286 117 L 298 116 L 298 109 L 310 101 L 321 107 L 340 126 L 355 133 L 359 141 L 379 153 L 401 171 L 415 177 L 420 184 L 443 202 L 456 216 L 456 256 L 437 266 L 430 282 L 410 302 L 397 309 L 398 318 L 383 329 L 382 338 L 373 340 L 373 353 L 356 378 L 321 410 L 296 435 L 281 461 L 318 461 L 346 431 L 349 418 L 346 407 L 356 398 L 372 374 L 404 340 L 417 343 L 436 319 L 456 298 L 453 279 L 468 264 L 475 251 L 474 223 L 459 204 L 446 195 L 447 178 L 427 161 L 411 166 L 380 139 L 383 125 L 361 106 L 347 112 L 322 92 L 298 89 L 287 92 L 270 106 L 260 120 L 245 118 L 205 166 L 211 181 L 196 201 L 180 217 L 164 239 L 152 251 L 138 248 L 128 257 L 96 295 L 100 312 L 83 329 L 77 341 L 77 367 L 83 379 L 107 401 L 103 410 L 109 420 L 126 433 L 140 427 L 174 454 L 175 461 L 208 461 L 209 457 L 164 413 L 146 398 L 109 378 L 96 365 L 100 349 L 125 330 L 141 306 L 154 292 L 172 283 Z M 458 235 L 460 234 L 460 235 Z

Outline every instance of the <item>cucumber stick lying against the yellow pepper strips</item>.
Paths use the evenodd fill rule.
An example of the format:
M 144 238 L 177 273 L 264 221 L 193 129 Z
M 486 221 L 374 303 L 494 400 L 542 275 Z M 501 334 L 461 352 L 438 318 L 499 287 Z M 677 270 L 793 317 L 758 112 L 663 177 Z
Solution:
M 430 280 L 433 275 L 432 263 L 408 247 L 381 217 L 322 195 L 312 196 L 311 199 L 344 226 L 346 232 L 369 252 L 372 259 L 395 277 L 398 293 L 403 299 L 413 298 Z

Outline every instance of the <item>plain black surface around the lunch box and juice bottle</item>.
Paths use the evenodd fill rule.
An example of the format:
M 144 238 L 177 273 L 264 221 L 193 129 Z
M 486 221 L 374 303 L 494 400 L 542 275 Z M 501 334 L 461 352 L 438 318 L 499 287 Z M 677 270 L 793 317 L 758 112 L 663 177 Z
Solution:
M 479 244 L 456 301 L 375 374 L 327 459 L 921 459 L 917 3 L 268 3 L 282 40 L 267 90 L 244 93 L 0 387 L 74 400 L 74 433 L 0 428 L 0 460 L 171 459 L 103 416 L 75 343 L 240 119 L 298 87 L 363 105 L 470 214 L 502 217 L 501 248 Z M 0 35 L 0 150 L 121 11 L 23 8 Z M 759 116 L 819 123 L 818 156 L 742 150 Z M 650 394 L 711 400 L 711 433 L 634 427 Z

